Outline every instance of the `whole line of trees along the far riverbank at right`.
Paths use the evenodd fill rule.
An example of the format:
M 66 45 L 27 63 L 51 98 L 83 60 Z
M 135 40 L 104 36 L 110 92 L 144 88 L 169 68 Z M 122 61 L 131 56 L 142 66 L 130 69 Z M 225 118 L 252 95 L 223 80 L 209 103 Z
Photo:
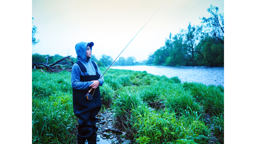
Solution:
M 146 64 L 162 66 L 224 66 L 224 14 L 218 7 L 210 6 L 209 18 L 203 17 L 202 25 L 170 33 L 165 46 L 148 57 Z

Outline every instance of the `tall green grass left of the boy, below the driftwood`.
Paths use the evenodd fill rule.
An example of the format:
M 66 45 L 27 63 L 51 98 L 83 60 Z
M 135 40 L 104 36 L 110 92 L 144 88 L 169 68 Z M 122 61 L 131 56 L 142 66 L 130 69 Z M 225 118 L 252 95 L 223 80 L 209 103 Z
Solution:
M 32 72 L 32 143 L 74 143 L 70 72 Z

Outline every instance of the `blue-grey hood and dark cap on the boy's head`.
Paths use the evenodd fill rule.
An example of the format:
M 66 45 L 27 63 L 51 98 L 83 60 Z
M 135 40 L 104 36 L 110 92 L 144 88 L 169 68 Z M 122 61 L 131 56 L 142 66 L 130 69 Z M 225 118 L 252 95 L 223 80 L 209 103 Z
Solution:
M 80 42 L 80 43 L 76 44 L 76 46 L 75 46 L 77 60 L 79 60 L 82 63 L 88 63 L 88 60 L 86 57 L 87 45 L 89 45 L 92 50 L 92 46 L 94 45 L 94 43 L 93 42 L 90 42 L 90 43 Z M 90 61 L 90 59 L 89 59 L 89 61 Z

